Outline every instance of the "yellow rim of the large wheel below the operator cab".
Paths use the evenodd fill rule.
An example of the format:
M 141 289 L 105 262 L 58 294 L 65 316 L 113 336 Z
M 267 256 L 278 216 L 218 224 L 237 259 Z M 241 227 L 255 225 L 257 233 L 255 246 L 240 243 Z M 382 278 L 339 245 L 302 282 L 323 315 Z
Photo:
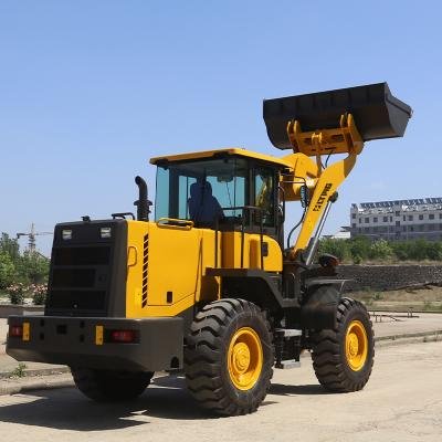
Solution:
M 233 335 L 228 350 L 228 369 L 233 385 L 240 390 L 250 390 L 260 378 L 263 350 L 257 333 L 242 327 Z

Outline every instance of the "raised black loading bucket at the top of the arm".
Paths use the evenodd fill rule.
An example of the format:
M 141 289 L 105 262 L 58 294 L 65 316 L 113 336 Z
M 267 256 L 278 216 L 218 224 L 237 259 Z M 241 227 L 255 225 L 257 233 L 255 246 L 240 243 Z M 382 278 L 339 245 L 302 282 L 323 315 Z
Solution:
M 412 109 L 391 95 L 387 83 L 368 84 L 314 94 L 265 99 L 267 135 L 273 146 L 291 149 L 287 123 L 297 120 L 304 131 L 339 127 L 340 116 L 350 113 L 362 139 L 402 137 Z

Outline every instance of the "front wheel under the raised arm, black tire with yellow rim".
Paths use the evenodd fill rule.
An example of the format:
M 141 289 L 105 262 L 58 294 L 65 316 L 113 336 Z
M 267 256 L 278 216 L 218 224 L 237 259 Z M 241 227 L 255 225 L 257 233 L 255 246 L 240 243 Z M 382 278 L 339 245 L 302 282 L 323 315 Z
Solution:
M 343 298 L 336 328 L 314 333 L 312 341 L 313 368 L 327 390 L 349 392 L 364 388 L 375 358 L 372 324 L 364 304 Z

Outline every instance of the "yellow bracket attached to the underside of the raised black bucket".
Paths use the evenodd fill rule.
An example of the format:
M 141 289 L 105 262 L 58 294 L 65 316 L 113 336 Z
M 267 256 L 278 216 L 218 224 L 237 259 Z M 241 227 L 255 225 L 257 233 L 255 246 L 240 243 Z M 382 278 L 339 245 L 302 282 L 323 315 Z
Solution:
M 287 123 L 287 135 L 293 151 L 308 157 L 329 154 L 360 154 L 364 140 L 351 114 L 343 114 L 339 127 L 303 131 L 301 123 L 295 119 Z

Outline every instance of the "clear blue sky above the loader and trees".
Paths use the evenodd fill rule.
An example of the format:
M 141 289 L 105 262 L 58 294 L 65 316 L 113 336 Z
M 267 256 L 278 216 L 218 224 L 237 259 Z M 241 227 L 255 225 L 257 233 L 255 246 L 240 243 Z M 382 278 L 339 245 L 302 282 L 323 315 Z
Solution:
M 441 197 L 440 4 L 2 0 L 0 231 L 133 210 L 135 175 L 154 192 L 152 156 L 283 156 L 263 98 L 381 81 L 413 118 L 366 145 L 325 232 L 351 202 Z

